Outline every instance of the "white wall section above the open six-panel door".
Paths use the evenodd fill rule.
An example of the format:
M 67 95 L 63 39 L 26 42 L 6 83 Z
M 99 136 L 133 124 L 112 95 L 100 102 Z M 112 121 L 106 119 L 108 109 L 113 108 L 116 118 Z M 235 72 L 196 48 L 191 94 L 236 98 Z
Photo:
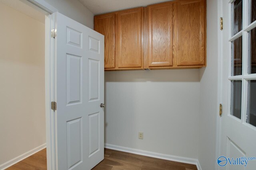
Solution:
M 59 12 L 83 25 L 94 29 L 94 14 L 78 0 L 45 0 Z

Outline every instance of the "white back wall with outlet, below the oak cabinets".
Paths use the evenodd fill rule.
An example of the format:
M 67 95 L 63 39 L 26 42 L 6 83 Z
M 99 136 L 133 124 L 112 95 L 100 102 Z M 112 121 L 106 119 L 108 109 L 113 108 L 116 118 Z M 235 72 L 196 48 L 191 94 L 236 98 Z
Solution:
M 105 143 L 197 158 L 199 81 L 196 69 L 105 72 Z

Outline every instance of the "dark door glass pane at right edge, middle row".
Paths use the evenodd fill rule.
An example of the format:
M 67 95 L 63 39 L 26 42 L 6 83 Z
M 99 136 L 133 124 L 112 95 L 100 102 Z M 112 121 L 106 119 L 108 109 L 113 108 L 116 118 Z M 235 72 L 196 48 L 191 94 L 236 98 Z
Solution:
M 249 74 L 256 73 L 256 28 L 249 31 Z

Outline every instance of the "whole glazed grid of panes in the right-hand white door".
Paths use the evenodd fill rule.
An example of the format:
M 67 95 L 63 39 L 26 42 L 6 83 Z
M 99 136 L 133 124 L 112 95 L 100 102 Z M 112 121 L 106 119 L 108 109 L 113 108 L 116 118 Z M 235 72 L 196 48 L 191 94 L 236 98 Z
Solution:
M 256 127 L 256 0 L 230 2 L 229 113 Z

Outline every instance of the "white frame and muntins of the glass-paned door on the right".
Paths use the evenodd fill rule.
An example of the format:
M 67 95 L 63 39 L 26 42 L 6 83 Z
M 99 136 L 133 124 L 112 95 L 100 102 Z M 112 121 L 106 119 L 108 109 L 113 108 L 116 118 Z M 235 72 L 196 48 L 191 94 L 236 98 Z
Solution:
M 255 80 L 255 74 L 248 74 L 248 31 L 250 25 L 248 23 L 248 4 L 250 0 L 242 1 L 242 30 L 232 35 L 233 31 L 232 24 L 234 14 L 232 14 L 232 3 L 234 0 L 222 0 L 223 9 L 223 32 L 222 32 L 222 117 L 221 117 L 221 144 L 220 144 L 220 155 L 226 158 L 240 158 L 240 157 L 256 157 L 256 127 L 246 123 L 246 115 L 248 111 L 248 80 Z M 254 22 L 255 24 L 255 22 Z M 234 61 L 232 61 L 232 50 L 234 50 L 234 40 L 242 37 L 242 71 L 241 75 L 234 75 L 232 73 L 232 67 L 234 67 Z M 233 64 L 232 64 L 233 62 Z M 240 86 L 234 87 L 232 83 L 234 80 L 241 80 Z M 233 82 L 232 82 L 233 81 Z M 241 88 L 240 96 L 232 97 L 232 90 L 238 94 L 238 89 Z M 234 93 L 233 93 L 234 94 Z M 254 94 L 256 95 L 256 94 Z M 232 115 L 232 105 L 239 107 L 239 99 L 241 104 L 241 118 Z M 236 100 L 236 101 L 234 101 Z M 238 102 L 237 102 L 238 101 Z M 224 161 L 225 162 L 225 161 Z M 246 166 L 244 165 L 230 165 L 229 160 L 226 161 L 225 166 L 220 169 L 227 170 L 255 170 L 256 160 L 249 160 Z M 222 164 L 224 165 L 224 164 Z

